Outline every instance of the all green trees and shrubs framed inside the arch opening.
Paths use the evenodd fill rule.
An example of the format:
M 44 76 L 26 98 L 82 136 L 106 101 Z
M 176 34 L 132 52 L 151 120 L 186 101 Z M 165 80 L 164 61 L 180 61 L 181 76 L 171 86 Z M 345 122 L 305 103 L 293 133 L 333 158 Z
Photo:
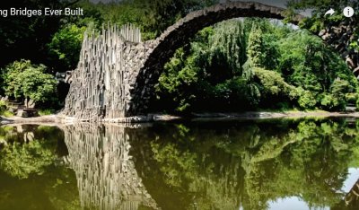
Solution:
M 344 110 L 357 88 L 341 57 L 310 32 L 244 19 L 199 31 L 180 48 L 164 66 L 157 97 L 169 111 Z

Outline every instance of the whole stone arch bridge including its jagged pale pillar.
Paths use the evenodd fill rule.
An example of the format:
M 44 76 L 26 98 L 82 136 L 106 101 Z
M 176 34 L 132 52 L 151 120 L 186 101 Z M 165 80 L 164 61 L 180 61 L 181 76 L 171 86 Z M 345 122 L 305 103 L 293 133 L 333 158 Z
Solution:
M 85 35 L 80 61 L 66 76 L 70 90 L 62 114 L 76 119 L 101 121 L 144 115 L 162 67 L 197 31 L 236 17 L 282 20 L 285 10 L 253 2 L 216 4 L 188 13 L 153 40 L 141 41 L 141 33 L 131 25 L 108 26 L 101 34 Z M 303 17 L 295 15 L 292 23 Z M 319 36 L 339 52 L 347 65 L 359 73 L 358 55 L 348 48 L 355 23 L 328 26 Z M 131 120 L 132 121 L 132 120 Z

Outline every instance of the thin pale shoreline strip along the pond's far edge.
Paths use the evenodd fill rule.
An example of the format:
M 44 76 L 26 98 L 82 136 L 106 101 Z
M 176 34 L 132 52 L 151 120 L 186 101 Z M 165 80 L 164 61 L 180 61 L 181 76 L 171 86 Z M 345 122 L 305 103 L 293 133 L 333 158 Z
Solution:
M 170 114 L 152 113 L 146 116 L 136 116 L 130 118 L 104 118 L 101 123 L 147 123 L 147 122 L 166 122 L 178 120 L 206 121 L 206 120 L 256 120 L 271 118 L 359 118 L 359 111 L 338 112 L 325 110 L 309 111 L 245 111 L 245 112 L 201 112 L 192 113 L 190 116 L 178 116 Z M 48 115 L 35 118 L 0 116 L 0 126 L 11 124 L 37 124 L 37 123 L 85 123 L 91 122 L 90 119 L 68 118 L 61 115 Z M 99 122 L 96 122 L 99 123 Z

